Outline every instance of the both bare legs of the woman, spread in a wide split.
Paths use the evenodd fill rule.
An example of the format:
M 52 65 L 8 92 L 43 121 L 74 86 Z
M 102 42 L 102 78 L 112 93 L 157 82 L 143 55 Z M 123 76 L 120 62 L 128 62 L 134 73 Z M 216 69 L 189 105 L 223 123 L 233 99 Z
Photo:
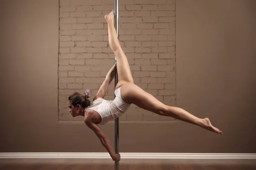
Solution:
M 164 105 L 154 96 L 143 91 L 143 89 L 139 88 L 137 85 L 134 85 L 128 60 L 124 52 L 122 51 L 119 40 L 116 36 L 113 11 L 111 11 L 110 14 L 105 15 L 105 18 L 108 22 L 109 44 L 111 50 L 116 56 L 118 78 L 119 81 L 126 82 L 125 84 L 123 84 L 124 88 L 122 88 L 121 91 L 121 96 L 125 102 L 133 103 L 140 108 L 151 111 L 153 113 L 157 113 L 162 116 L 170 116 L 175 119 L 203 127 L 212 132 L 222 134 L 220 130 L 211 125 L 211 122 L 208 118 L 200 119 L 181 108 Z

